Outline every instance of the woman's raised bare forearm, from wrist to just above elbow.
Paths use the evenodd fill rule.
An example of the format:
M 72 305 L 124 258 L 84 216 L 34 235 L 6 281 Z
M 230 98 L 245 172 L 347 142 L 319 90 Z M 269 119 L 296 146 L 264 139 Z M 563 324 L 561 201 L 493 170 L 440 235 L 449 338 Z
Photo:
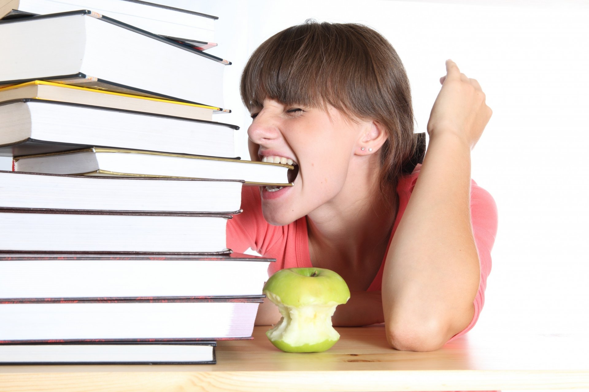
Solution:
M 387 256 L 388 325 L 438 329 L 447 340 L 472 319 L 480 275 L 470 220 L 470 162 L 470 146 L 452 133 L 430 139 Z

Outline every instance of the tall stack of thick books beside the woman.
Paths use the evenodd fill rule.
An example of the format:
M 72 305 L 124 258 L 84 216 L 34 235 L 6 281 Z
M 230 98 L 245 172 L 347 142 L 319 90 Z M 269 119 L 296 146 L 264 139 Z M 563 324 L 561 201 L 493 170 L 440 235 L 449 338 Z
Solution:
M 94 10 L 0 36 L 0 363 L 215 363 L 251 339 L 273 260 L 226 223 L 293 167 L 235 158 L 211 120 L 229 62 Z

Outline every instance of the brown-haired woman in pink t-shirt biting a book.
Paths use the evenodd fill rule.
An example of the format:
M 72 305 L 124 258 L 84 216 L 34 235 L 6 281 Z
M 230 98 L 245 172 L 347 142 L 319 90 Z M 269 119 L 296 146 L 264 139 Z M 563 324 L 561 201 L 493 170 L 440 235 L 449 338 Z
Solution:
M 287 28 L 241 79 L 253 160 L 290 162 L 294 186 L 245 187 L 228 246 L 289 267 L 322 267 L 352 293 L 334 326 L 385 323 L 399 350 L 436 350 L 474 326 L 497 230 L 492 197 L 470 179 L 491 117 L 475 79 L 446 61 L 415 165 L 411 93 L 391 44 L 356 24 Z M 280 313 L 264 301 L 256 324 Z

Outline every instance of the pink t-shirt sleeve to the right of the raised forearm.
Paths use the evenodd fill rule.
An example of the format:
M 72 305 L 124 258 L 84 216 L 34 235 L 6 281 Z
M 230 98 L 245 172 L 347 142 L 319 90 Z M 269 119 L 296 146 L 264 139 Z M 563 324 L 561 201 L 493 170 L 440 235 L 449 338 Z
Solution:
M 479 187 L 474 180 L 471 181 L 471 222 L 481 264 L 481 281 L 474 300 L 475 313 L 471 323 L 453 336 L 450 341 L 471 330 L 481 314 L 482 306 L 485 303 L 487 277 L 491 273 L 491 249 L 497 235 L 497 205 L 495 205 L 495 200 L 489 192 Z

